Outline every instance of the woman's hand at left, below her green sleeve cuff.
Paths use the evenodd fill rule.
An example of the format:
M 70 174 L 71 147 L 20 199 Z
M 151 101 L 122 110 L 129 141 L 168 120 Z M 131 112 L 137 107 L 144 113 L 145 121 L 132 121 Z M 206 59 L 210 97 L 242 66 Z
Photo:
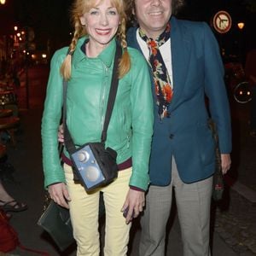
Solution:
M 69 208 L 67 201 L 70 201 L 70 197 L 67 192 L 67 186 L 65 183 L 55 183 L 48 187 L 49 197 L 55 201 L 56 204 L 61 207 Z

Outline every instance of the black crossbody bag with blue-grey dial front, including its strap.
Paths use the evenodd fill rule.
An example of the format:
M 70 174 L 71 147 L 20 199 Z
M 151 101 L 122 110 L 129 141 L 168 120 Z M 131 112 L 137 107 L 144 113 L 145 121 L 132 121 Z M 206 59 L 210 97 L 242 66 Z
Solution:
M 63 125 L 64 143 L 67 152 L 73 162 L 74 178 L 78 177 L 79 182 L 84 185 L 86 191 L 91 191 L 102 185 L 113 182 L 117 177 L 118 166 L 116 163 L 117 153 L 113 148 L 105 148 L 107 139 L 108 124 L 113 111 L 113 104 L 119 84 L 118 64 L 122 55 L 122 49 L 116 44 L 116 52 L 113 62 L 113 76 L 108 96 L 108 106 L 105 115 L 105 122 L 102 130 L 102 140 L 98 143 L 85 143 L 76 148 L 70 132 L 67 128 L 67 81 L 63 79 Z

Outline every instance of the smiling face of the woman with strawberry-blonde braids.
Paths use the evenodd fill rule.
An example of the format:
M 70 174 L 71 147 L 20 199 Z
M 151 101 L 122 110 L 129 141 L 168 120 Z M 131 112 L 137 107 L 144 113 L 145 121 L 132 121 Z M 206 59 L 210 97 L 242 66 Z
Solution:
M 90 46 L 104 49 L 119 27 L 118 11 L 110 0 L 96 1 L 96 6 L 80 17 L 90 38 Z

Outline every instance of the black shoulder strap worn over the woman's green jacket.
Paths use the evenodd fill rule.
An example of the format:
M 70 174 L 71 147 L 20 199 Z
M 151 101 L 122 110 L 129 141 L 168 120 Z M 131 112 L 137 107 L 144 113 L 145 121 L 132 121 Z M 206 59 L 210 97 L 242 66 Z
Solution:
M 102 130 L 102 143 L 106 142 L 107 139 L 107 131 L 108 131 L 108 124 L 111 118 L 111 114 L 113 111 L 113 104 L 115 101 L 117 88 L 119 84 L 119 78 L 118 78 L 118 66 L 119 66 L 119 58 L 122 55 L 122 48 L 121 46 L 116 42 L 116 51 L 114 55 L 114 61 L 113 61 L 113 75 L 111 80 L 111 87 L 109 90 L 109 96 L 108 96 L 108 105 L 107 110 L 105 114 L 105 120 Z M 74 152 L 76 149 L 73 144 L 73 139 L 70 135 L 70 132 L 67 128 L 66 118 L 67 118 L 67 80 L 63 79 L 63 129 L 64 129 L 64 143 L 67 148 L 67 152 Z

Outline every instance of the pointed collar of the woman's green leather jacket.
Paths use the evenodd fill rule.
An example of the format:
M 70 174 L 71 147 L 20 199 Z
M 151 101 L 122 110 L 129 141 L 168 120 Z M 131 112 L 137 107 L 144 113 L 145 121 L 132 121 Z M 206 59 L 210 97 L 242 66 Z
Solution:
M 91 60 L 91 61 L 97 61 L 101 60 L 106 67 L 111 67 L 111 64 L 113 63 L 113 56 L 115 53 L 115 39 L 113 38 L 108 44 L 108 47 L 103 49 L 100 55 L 98 55 L 96 58 L 89 58 L 84 54 L 84 50 L 82 50 L 82 45 L 85 44 L 89 40 L 88 37 L 79 38 L 77 47 L 73 53 L 73 65 L 77 66 L 80 61 L 83 60 Z

